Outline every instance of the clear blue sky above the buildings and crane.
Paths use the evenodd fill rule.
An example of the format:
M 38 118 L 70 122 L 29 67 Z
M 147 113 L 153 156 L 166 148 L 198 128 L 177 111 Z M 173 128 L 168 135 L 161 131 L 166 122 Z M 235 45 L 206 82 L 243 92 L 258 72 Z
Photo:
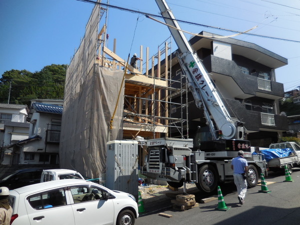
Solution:
M 300 0 L 166 0 L 177 19 L 204 25 L 300 41 Z M 102 0 L 102 3 L 106 1 Z M 155 0 L 109 0 L 109 4 L 158 14 Z M 93 5 L 78 0 L 0 0 L 0 75 L 10 69 L 39 71 L 43 66 L 68 64 L 84 35 Z M 101 22 L 103 22 L 102 18 Z M 170 36 L 162 24 L 138 13 L 108 9 L 108 42 L 116 54 L 127 59 L 139 54 L 139 46 L 149 47 L 149 55 Z M 182 29 L 202 30 L 220 35 L 232 32 L 179 23 Z M 190 35 L 186 34 L 189 38 Z M 285 90 L 300 85 L 300 42 L 249 35 L 236 39 L 255 43 L 288 59 L 288 65 L 275 70 Z M 131 47 L 132 44 L 132 47 Z M 130 50 L 131 49 L 131 50 Z M 172 51 L 176 49 L 172 41 Z

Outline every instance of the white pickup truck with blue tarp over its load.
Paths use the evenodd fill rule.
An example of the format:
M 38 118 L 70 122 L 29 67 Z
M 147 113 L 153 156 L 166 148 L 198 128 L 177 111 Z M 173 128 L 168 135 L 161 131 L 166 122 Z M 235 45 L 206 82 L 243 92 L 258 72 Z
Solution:
M 300 146 L 295 142 L 272 143 L 269 145 L 269 149 L 265 149 L 265 150 L 274 149 L 275 151 L 275 149 L 285 149 L 285 148 L 291 149 L 291 152 L 287 156 L 274 157 L 269 160 L 267 160 L 265 157 L 268 170 L 278 171 L 280 168 L 284 168 L 284 165 L 286 165 L 288 172 L 291 174 L 292 167 L 296 167 L 300 165 Z M 264 154 L 264 150 L 261 150 L 260 153 Z

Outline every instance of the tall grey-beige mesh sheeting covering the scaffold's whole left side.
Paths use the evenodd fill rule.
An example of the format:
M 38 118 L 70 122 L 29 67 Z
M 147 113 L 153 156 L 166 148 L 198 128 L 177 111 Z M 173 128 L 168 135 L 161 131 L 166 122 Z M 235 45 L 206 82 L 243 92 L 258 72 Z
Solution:
M 91 178 L 105 172 L 108 122 L 123 77 L 123 70 L 94 64 L 99 9 L 95 4 L 66 71 L 59 144 L 60 168 L 73 168 Z M 123 87 L 121 91 L 110 140 L 122 139 Z

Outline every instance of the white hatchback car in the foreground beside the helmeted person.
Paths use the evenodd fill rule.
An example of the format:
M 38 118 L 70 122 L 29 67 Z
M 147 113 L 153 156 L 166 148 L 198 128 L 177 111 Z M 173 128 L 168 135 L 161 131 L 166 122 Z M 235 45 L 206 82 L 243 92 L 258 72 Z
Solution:
M 60 179 L 9 191 L 11 225 L 134 224 L 132 194 L 82 179 Z

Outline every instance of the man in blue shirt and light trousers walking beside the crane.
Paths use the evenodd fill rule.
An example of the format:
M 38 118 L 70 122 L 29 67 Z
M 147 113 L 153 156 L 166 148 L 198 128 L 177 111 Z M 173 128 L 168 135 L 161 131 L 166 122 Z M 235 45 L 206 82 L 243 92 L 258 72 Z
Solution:
M 237 189 L 237 199 L 240 204 L 243 204 L 247 191 L 247 166 L 248 162 L 243 157 L 244 152 L 239 150 L 237 156 L 232 158 L 231 169 L 233 169 L 234 184 Z

